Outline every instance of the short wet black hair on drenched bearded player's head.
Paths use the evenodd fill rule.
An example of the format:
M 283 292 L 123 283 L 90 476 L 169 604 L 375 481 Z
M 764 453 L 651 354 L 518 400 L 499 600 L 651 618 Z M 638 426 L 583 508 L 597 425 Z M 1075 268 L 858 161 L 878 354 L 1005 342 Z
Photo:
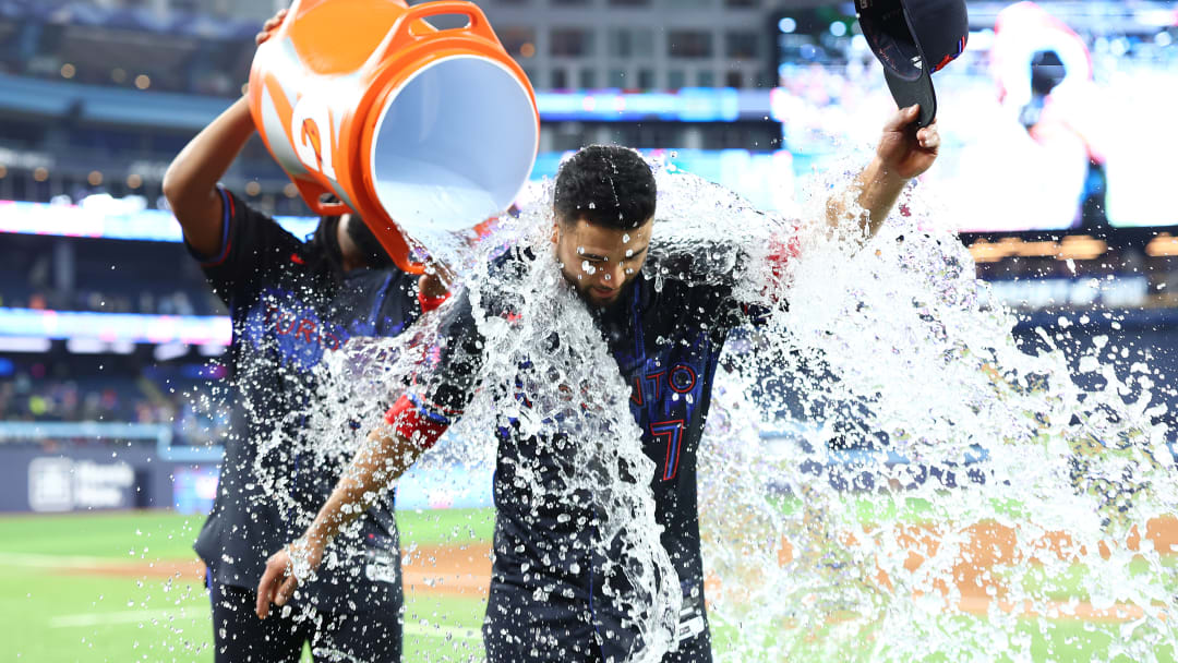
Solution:
M 564 224 L 628 230 L 655 216 L 655 175 L 636 151 L 590 145 L 561 165 L 552 207 Z

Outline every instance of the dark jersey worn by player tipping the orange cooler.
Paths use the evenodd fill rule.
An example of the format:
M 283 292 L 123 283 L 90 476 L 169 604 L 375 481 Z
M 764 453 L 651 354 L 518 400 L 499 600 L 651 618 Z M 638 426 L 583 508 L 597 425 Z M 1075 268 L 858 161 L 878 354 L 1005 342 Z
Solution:
M 217 499 L 196 550 L 214 582 L 252 590 L 266 558 L 305 526 L 267 495 L 260 475 L 285 479 L 283 490 L 307 517 L 326 500 L 342 470 L 313 466 L 298 452 L 307 449 L 303 415 L 313 406 L 312 369 L 353 337 L 399 334 L 421 307 L 416 278 L 396 268 L 355 270 L 338 286 L 317 277 L 304 243 L 232 193 L 221 195 L 221 252 L 196 257 L 233 323 L 232 425 Z M 265 471 L 258 472 L 259 442 L 276 431 L 290 446 L 266 453 Z M 323 569 L 300 596 L 329 612 L 401 608 L 391 495 L 369 510 L 359 536 L 339 544 L 338 550 L 351 551 L 349 562 Z

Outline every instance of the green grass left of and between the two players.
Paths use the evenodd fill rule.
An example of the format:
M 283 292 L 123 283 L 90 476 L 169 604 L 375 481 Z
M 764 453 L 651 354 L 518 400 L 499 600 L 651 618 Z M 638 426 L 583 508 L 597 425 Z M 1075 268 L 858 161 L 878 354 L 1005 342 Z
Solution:
M 489 510 L 399 512 L 403 545 L 484 542 Z M 170 582 L 93 566 L 187 561 L 203 516 L 170 512 L 0 518 L 2 661 L 212 661 L 200 578 Z M 485 603 L 406 592 L 405 661 L 465 661 L 482 652 Z

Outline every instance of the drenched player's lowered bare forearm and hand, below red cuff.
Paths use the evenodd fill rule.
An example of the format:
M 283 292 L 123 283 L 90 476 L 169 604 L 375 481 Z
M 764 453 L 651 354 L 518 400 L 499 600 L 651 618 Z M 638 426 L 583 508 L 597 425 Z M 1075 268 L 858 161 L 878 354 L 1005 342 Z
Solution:
M 293 558 L 305 565 L 304 574 L 316 569 L 331 539 L 368 511 L 380 492 L 405 473 L 441 435 L 441 431 L 436 431 L 437 435 L 409 432 L 413 424 L 410 420 L 412 411 L 390 411 L 389 418 L 398 415 L 399 419 L 393 419 L 396 424 L 382 424 L 369 433 L 303 537 L 266 561 L 266 570 L 258 583 L 256 612 L 259 618 L 266 618 L 271 603 L 285 605 L 298 588 Z

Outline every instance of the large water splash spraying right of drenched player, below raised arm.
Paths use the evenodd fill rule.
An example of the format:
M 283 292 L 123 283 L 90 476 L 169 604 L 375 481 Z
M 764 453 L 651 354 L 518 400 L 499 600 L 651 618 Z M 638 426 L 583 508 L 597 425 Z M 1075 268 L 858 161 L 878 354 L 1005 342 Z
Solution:
M 762 297 L 755 350 L 729 358 L 773 377 L 723 390 L 701 451 L 729 659 L 1066 657 L 1068 619 L 1124 621 L 1097 656 L 1172 655 L 1172 571 L 1143 536 L 1178 505 L 1152 371 L 1088 354 L 1104 386 L 1080 390 L 1068 334 L 1025 352 L 960 241 L 925 230 L 934 207 L 905 208 L 862 250 L 802 228 L 788 306 Z

